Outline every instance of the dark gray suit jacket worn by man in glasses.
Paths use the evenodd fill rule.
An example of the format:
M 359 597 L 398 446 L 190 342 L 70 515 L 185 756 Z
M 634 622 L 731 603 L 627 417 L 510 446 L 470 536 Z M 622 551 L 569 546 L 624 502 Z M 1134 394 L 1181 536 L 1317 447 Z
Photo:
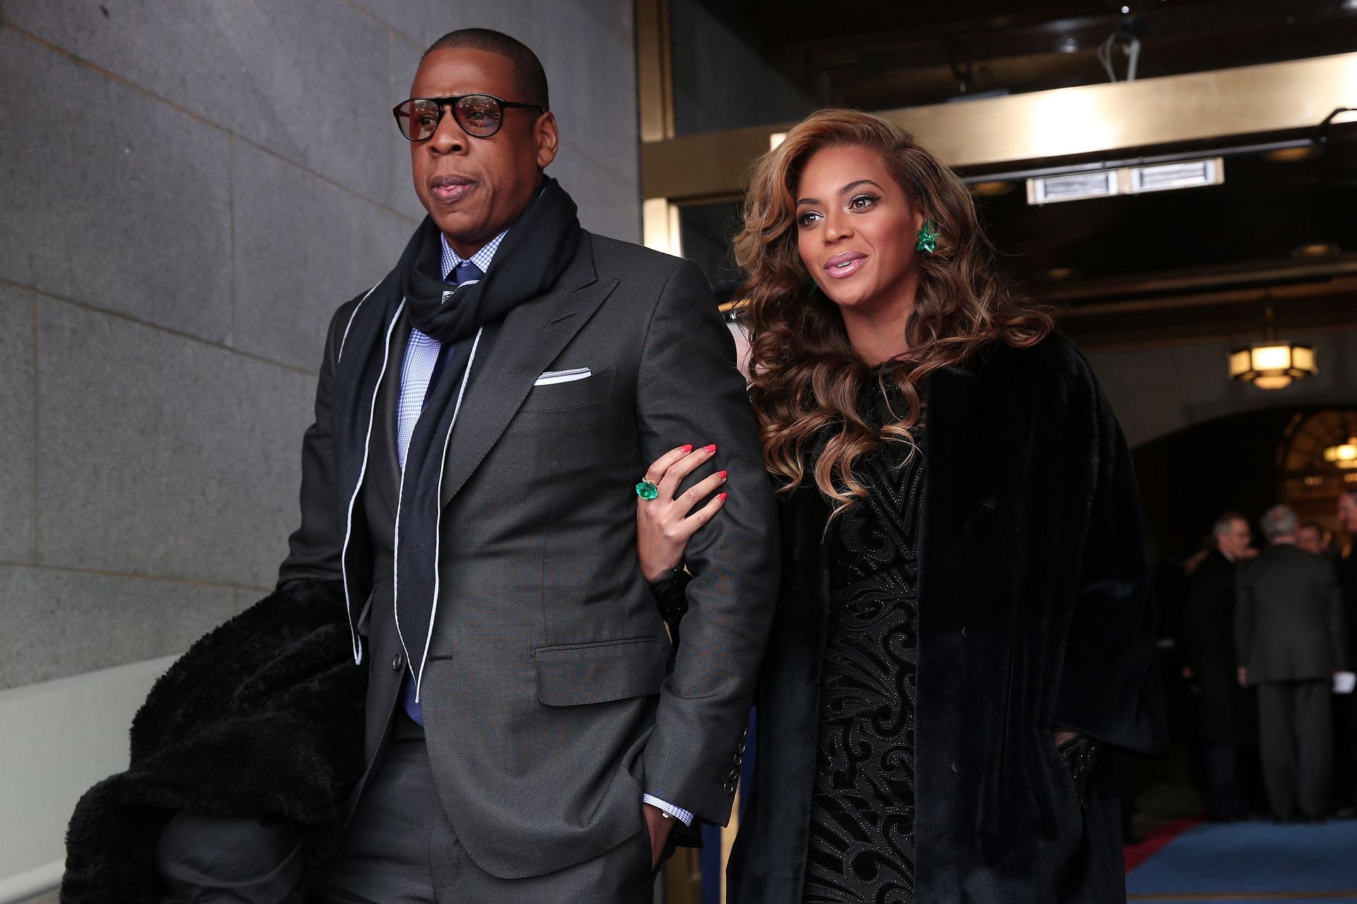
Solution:
M 339 575 L 330 392 L 353 304 L 331 323 L 304 443 L 303 522 L 280 583 Z M 392 331 L 392 361 L 408 329 Z M 592 375 L 533 385 L 581 367 Z M 404 674 L 391 581 L 398 393 L 391 367 L 362 488 L 369 763 Z M 688 546 L 695 579 L 670 668 L 636 565 L 632 487 L 687 442 L 716 443 L 730 497 Z M 487 328 L 445 469 L 421 702 L 438 794 L 471 858 L 499 877 L 582 862 L 642 828 L 643 792 L 725 824 L 778 590 L 776 514 L 733 343 L 700 271 L 586 236 L 551 290 Z

